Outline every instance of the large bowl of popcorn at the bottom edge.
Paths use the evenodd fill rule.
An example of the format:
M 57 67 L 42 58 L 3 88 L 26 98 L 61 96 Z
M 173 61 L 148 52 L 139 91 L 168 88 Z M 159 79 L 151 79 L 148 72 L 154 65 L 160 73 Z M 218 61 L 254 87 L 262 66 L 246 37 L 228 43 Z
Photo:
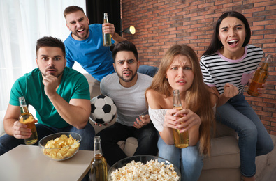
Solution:
M 108 180 L 180 181 L 181 173 L 167 159 L 151 155 L 137 155 L 121 159 L 113 164 L 108 171 Z

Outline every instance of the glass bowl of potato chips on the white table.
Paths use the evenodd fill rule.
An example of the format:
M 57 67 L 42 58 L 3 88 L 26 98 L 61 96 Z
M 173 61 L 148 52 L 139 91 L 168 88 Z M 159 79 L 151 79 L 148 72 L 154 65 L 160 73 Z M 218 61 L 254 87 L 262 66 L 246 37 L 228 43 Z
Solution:
M 78 152 L 82 136 L 75 132 L 59 132 L 45 136 L 38 142 L 46 157 L 61 161 L 69 159 Z

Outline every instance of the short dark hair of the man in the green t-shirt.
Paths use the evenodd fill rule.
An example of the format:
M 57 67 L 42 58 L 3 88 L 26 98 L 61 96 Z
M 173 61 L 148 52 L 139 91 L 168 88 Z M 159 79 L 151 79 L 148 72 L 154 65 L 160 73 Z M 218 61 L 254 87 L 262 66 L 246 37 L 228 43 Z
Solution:
M 55 38 L 52 36 L 43 36 L 36 41 L 36 56 L 38 54 L 38 49 L 41 47 L 59 47 L 61 48 L 62 54 L 65 57 L 65 46 L 64 42 L 62 42 L 59 38 Z

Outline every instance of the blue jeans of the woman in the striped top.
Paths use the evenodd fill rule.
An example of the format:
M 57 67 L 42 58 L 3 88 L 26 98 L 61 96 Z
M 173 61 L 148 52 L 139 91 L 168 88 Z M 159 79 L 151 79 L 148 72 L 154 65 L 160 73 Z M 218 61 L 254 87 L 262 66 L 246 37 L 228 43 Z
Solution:
M 240 170 L 243 176 L 252 177 L 256 173 L 255 157 L 266 155 L 273 150 L 273 141 L 249 106 L 243 94 L 236 95 L 217 108 L 217 121 L 231 127 L 238 133 L 240 148 Z

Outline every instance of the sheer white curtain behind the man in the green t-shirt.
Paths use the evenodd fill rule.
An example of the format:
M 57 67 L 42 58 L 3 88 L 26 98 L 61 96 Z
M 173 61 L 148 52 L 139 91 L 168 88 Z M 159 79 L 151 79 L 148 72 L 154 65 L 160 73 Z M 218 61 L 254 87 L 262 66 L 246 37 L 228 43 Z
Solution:
M 36 40 L 70 34 L 63 12 L 71 5 L 86 10 L 85 0 L 0 0 L 0 129 L 13 83 L 37 67 Z

